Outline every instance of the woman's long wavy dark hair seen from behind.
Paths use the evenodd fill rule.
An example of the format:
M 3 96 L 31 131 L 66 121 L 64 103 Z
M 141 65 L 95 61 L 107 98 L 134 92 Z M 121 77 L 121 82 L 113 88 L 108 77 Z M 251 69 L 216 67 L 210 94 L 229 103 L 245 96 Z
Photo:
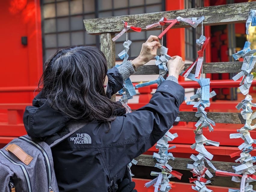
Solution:
M 50 106 L 71 119 L 109 124 L 123 107 L 106 97 L 107 70 L 105 55 L 95 47 L 60 49 L 45 62 L 38 86 Z

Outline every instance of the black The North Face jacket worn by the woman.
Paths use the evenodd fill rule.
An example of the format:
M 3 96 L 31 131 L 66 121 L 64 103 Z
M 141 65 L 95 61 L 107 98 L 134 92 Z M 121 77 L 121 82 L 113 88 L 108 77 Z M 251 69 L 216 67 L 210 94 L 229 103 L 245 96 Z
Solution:
M 123 87 L 127 74 L 108 70 L 108 96 Z M 184 88 L 166 80 L 158 86 L 149 104 L 127 113 L 108 125 L 88 122 L 75 134 L 52 148 L 60 192 L 107 192 L 112 180 L 123 178 L 126 165 L 141 155 L 169 130 L 184 101 Z M 40 93 L 26 107 L 24 125 L 31 137 L 59 138 L 68 116 L 53 110 Z

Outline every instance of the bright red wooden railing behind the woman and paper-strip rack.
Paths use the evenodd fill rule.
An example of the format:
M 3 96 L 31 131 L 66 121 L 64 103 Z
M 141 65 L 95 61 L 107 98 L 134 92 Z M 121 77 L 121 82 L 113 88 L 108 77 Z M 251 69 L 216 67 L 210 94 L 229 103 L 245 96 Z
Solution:
M 136 83 L 135 83 L 136 84 Z M 180 82 L 180 85 L 182 85 L 184 88 L 199 88 L 199 84 L 194 81 L 188 81 L 188 82 Z M 233 80 L 216 80 L 211 81 L 211 88 L 229 88 L 229 87 L 238 87 L 239 82 L 234 82 Z M 256 80 L 252 82 L 251 86 L 256 86 Z M 148 101 L 151 98 L 151 92 L 152 89 L 156 89 L 157 84 L 153 84 L 147 87 L 139 88 L 138 91 L 140 93 L 139 95 L 139 103 L 136 104 L 129 104 L 129 106 L 132 109 L 138 109 L 139 107 L 144 106 L 148 103 Z M 23 86 L 23 87 L 0 87 L 0 93 L 5 92 L 12 92 L 12 93 L 18 93 L 18 92 L 34 92 L 37 89 L 36 86 Z M 225 110 L 235 110 L 235 106 L 237 105 L 238 101 L 217 101 L 211 103 L 211 110 L 215 110 L 218 112 L 221 109 Z M 10 142 L 14 137 L 19 137 L 20 135 L 26 134 L 26 131 L 24 129 L 23 125 L 23 113 L 24 109 L 27 105 L 31 105 L 29 103 L 24 104 L 0 104 L 0 110 L 6 110 L 6 115 L 4 118 L 1 119 L 2 122 L 0 122 L 0 145 L 5 145 L 6 143 Z M 185 103 L 181 104 L 180 110 L 188 110 L 192 111 L 193 106 L 186 105 Z M 238 111 L 236 111 L 238 112 Z M 217 124 L 215 127 L 215 131 L 211 134 L 208 134 L 206 132 L 207 138 L 209 137 L 215 137 L 218 138 L 218 141 L 221 142 L 222 147 L 219 148 L 212 148 L 212 146 L 206 146 L 208 150 L 212 150 L 212 153 L 215 155 L 215 160 L 222 161 L 223 157 L 226 161 L 230 161 L 230 157 L 228 156 L 231 152 L 235 152 L 237 150 L 237 147 L 239 145 L 239 141 L 237 140 L 230 140 L 229 134 L 232 131 L 236 131 L 236 128 L 239 128 L 239 125 L 231 125 L 231 124 Z M 177 132 L 180 137 L 175 139 L 175 145 L 179 146 L 177 147 L 177 150 L 174 150 L 173 153 L 177 157 L 184 157 L 189 158 L 191 153 L 190 144 L 194 142 L 193 140 L 193 129 L 194 124 L 189 122 L 180 122 L 177 126 L 174 126 L 172 128 L 172 132 Z M 252 132 L 254 134 L 254 132 Z M 256 132 L 255 132 L 256 137 Z M 156 152 L 156 149 L 152 147 L 148 150 L 148 154 L 152 154 L 153 152 Z M 256 154 L 255 154 L 256 155 Z M 221 160 L 222 159 L 222 160 Z

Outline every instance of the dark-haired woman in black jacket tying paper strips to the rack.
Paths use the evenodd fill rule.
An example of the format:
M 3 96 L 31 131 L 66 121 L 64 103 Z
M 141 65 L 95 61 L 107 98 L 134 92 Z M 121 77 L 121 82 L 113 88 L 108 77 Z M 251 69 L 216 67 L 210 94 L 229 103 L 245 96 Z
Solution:
M 70 124 L 82 125 L 52 148 L 60 191 L 116 191 L 126 165 L 172 126 L 184 100 L 184 88 L 177 83 L 184 62 L 178 56 L 168 61 L 169 76 L 149 104 L 126 114 L 109 99 L 159 47 L 158 38 L 150 36 L 136 59 L 110 70 L 103 53 L 86 46 L 59 50 L 46 61 L 41 92 L 23 120 L 29 136 L 48 143 L 62 137 Z

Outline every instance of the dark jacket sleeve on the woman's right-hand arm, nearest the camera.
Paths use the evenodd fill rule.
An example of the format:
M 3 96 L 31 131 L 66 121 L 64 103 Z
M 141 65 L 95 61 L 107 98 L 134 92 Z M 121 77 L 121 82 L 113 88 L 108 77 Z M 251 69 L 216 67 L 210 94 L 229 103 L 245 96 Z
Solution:
M 133 158 L 154 146 L 173 125 L 183 101 L 184 88 L 166 80 L 158 86 L 149 104 L 117 117 L 104 135 L 103 142 L 109 145 L 100 149 L 110 162 L 110 173 L 118 173 Z

